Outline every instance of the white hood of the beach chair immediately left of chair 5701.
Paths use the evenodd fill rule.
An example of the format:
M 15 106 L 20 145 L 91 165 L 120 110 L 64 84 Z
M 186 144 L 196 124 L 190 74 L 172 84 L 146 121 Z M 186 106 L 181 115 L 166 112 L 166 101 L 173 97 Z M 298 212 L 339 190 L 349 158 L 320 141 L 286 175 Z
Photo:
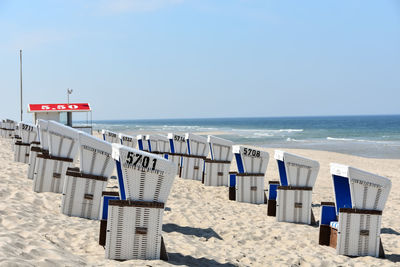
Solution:
M 112 145 L 87 133 L 79 133 L 80 170 L 84 174 L 110 177 L 114 170 Z

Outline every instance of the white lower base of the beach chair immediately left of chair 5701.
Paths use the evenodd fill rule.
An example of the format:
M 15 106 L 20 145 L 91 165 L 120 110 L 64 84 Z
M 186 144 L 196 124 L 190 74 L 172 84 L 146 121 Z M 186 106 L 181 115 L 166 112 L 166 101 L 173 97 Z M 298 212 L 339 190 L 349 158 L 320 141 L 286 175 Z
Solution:
M 101 196 L 107 186 L 107 177 L 80 172 L 66 172 L 61 198 L 61 213 L 68 216 L 97 220 Z

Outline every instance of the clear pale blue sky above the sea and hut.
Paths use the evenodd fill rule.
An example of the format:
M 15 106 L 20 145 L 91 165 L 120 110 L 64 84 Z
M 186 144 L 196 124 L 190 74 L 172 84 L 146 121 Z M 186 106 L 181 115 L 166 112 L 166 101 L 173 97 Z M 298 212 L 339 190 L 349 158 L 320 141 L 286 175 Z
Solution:
M 400 1 L 0 0 L 0 117 L 400 113 Z M 26 119 L 31 119 L 25 114 Z

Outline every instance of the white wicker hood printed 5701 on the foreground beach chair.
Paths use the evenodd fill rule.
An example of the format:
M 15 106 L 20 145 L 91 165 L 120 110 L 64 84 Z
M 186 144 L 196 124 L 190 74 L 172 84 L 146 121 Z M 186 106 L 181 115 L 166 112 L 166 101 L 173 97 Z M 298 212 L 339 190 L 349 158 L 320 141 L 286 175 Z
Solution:
M 155 154 L 113 144 L 122 200 L 165 203 L 176 174 L 176 166 Z

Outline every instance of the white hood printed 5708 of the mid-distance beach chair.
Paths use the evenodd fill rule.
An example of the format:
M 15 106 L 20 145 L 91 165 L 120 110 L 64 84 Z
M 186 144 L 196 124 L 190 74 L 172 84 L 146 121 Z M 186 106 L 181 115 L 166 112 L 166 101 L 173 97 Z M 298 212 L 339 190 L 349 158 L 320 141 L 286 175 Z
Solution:
M 235 154 L 238 173 L 261 174 L 267 170 L 268 152 L 239 145 L 233 146 L 232 151 Z

